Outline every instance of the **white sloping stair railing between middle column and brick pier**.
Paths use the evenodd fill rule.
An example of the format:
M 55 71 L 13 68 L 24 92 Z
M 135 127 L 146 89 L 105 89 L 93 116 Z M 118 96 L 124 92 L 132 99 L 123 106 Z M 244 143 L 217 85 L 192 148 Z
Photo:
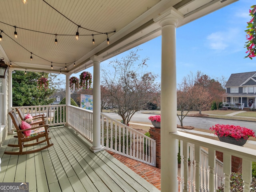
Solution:
M 156 141 L 101 114 L 102 146 L 106 150 L 156 166 Z

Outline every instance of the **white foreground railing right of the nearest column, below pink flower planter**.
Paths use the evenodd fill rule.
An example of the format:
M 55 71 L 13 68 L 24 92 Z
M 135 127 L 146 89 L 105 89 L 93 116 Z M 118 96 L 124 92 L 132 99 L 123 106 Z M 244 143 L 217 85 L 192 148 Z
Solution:
M 214 192 L 219 186 L 219 182 L 224 183 L 224 192 L 230 192 L 230 174 L 231 174 L 231 156 L 242 158 L 242 178 L 244 181 L 244 192 L 250 192 L 250 183 L 252 182 L 252 161 L 256 159 L 256 150 L 236 146 L 223 142 L 212 140 L 184 132 L 171 133 L 172 136 L 183 142 L 183 178 L 181 180 L 182 190 L 184 191 L 202 191 Z M 190 145 L 189 145 L 190 143 Z M 189 156 L 189 146 L 194 146 L 194 153 Z M 208 162 L 204 161 L 201 154 L 201 148 L 208 148 Z M 223 152 L 223 174 L 218 171 L 216 165 L 215 152 Z M 194 162 L 190 166 L 190 179 L 188 169 L 188 159 L 194 155 Z M 191 173 L 192 170 L 192 173 Z M 208 174 L 208 177 L 206 175 Z M 222 175 L 222 176 L 221 176 Z M 222 181 L 223 178 L 223 181 Z

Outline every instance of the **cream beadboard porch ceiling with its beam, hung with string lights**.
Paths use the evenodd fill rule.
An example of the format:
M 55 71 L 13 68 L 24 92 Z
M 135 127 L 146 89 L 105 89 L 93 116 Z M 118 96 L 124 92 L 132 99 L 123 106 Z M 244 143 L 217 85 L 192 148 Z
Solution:
M 62 73 L 76 73 L 92 66 L 91 56 L 106 60 L 159 36 L 161 30 L 154 20 L 167 10 L 172 9 L 183 18 L 179 27 L 235 1 L 27 0 L 23 4 L 22 0 L 2 0 L 0 56 L 18 70 L 59 73 L 61 69 Z M 108 34 L 109 45 L 106 34 L 94 35 L 93 45 L 91 34 L 97 33 L 79 28 L 80 36 L 76 40 L 76 24 L 98 32 L 116 32 Z M 13 26 L 17 27 L 18 38 L 14 38 Z M 56 45 L 52 34 L 72 36 L 57 35 Z M 30 60 L 31 52 L 33 60 Z

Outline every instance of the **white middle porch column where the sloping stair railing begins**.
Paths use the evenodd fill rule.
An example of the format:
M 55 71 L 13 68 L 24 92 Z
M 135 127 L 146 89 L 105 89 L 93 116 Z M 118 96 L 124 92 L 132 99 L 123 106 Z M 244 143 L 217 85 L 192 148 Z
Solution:
M 90 59 L 93 61 L 93 141 L 90 150 L 98 152 L 104 149 L 100 142 L 100 62 L 102 59 L 98 56 L 92 56 Z

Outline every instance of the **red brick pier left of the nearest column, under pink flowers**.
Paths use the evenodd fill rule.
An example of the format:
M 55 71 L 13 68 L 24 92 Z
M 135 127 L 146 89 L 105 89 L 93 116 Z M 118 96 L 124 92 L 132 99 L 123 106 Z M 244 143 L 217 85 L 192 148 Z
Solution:
M 149 130 L 150 138 L 156 140 L 156 167 L 161 168 L 161 129 L 160 128 L 155 128 L 155 127 L 150 127 Z

